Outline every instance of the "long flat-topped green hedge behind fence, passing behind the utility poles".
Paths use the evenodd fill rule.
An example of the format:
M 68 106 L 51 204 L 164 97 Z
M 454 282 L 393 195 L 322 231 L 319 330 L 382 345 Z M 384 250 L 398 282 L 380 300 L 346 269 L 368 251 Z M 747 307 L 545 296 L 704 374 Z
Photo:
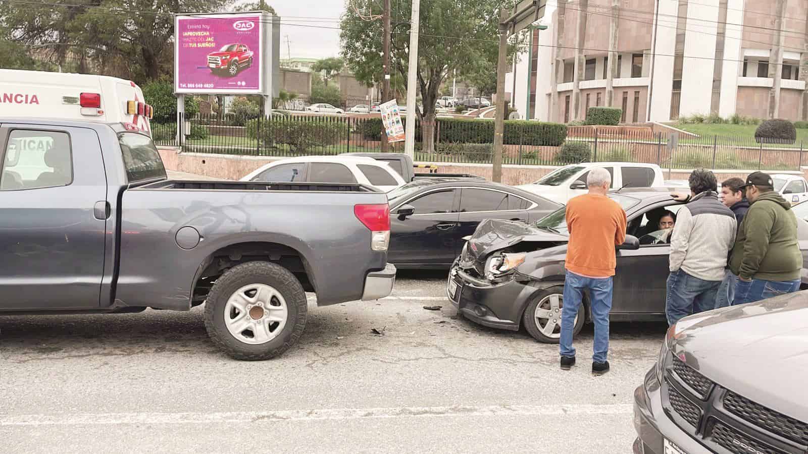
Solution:
M 491 120 L 438 119 L 438 143 L 493 144 L 494 122 Z M 420 135 L 420 124 L 415 135 Z M 368 140 L 381 137 L 381 118 L 360 120 L 356 132 Z M 566 125 L 529 120 L 505 120 L 505 145 L 558 146 L 566 139 Z

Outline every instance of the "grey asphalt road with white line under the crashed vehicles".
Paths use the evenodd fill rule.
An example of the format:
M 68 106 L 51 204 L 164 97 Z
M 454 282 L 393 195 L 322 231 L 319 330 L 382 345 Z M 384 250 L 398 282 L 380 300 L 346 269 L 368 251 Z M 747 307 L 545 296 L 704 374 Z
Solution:
M 310 304 L 301 342 L 254 363 L 217 351 L 199 308 L 0 317 L 0 452 L 630 452 L 665 330 L 612 324 L 595 377 L 591 326 L 562 372 L 558 346 L 457 318 L 442 274 Z

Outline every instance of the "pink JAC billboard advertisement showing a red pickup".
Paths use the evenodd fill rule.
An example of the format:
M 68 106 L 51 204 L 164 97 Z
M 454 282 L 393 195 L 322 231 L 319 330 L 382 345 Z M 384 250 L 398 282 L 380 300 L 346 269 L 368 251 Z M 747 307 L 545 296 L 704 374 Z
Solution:
M 263 93 L 260 14 L 178 16 L 177 93 Z

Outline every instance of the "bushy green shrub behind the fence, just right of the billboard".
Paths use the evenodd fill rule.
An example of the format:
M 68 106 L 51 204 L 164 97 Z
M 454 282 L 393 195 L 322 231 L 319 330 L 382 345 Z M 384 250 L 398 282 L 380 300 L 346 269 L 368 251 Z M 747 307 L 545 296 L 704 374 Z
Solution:
M 336 145 L 344 132 L 343 124 L 327 119 L 280 121 L 249 120 L 247 137 L 258 139 L 263 145 L 289 145 L 293 152 L 305 153 L 313 146 Z

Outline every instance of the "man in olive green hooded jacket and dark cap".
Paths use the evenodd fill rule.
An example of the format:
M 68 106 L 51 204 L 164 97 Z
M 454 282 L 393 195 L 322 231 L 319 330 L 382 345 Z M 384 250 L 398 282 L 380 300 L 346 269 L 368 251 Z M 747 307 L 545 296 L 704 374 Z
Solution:
M 751 205 L 732 248 L 730 269 L 738 276 L 732 305 L 800 288 L 802 251 L 791 204 L 774 191 L 772 177 L 763 172 L 749 174 L 744 187 Z

